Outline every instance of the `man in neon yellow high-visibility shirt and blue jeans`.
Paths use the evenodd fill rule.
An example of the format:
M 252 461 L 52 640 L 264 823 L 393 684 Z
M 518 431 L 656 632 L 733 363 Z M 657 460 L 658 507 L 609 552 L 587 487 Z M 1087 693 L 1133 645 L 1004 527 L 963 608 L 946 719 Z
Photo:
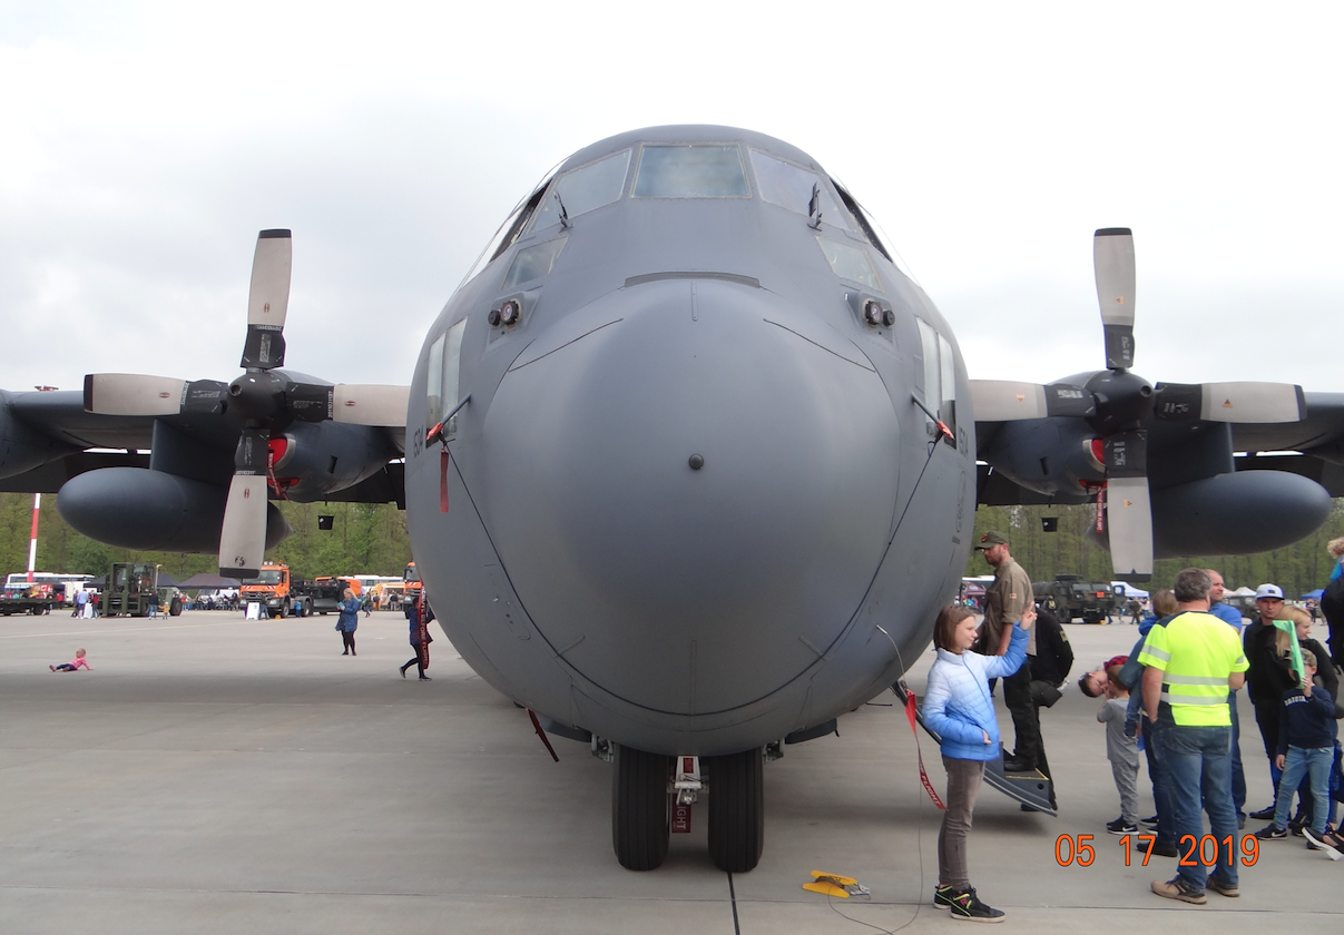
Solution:
M 1203 905 L 1208 885 L 1223 896 L 1239 896 L 1236 880 L 1236 810 L 1232 805 L 1232 719 L 1227 699 L 1246 681 L 1242 641 L 1208 613 L 1212 583 L 1200 568 L 1176 575 L 1172 590 L 1179 614 L 1159 621 L 1148 633 L 1138 661 L 1144 712 L 1160 724 L 1154 740 L 1171 779 L 1169 797 L 1176 846 L 1181 854 L 1173 880 L 1154 880 L 1159 896 Z M 1203 801 L 1203 807 L 1202 806 Z M 1200 845 L 1204 819 L 1218 842 L 1216 871 Z M 1228 846 L 1230 842 L 1230 846 Z M 1188 854 L 1188 858 L 1187 858 Z

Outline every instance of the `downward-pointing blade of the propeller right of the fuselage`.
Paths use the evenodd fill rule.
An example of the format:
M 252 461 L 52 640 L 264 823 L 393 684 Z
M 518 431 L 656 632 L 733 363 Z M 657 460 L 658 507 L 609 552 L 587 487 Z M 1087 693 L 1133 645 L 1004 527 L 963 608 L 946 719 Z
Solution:
M 1105 441 L 1106 535 L 1116 578 L 1145 582 L 1153 574 L 1153 509 L 1148 492 L 1148 433 Z

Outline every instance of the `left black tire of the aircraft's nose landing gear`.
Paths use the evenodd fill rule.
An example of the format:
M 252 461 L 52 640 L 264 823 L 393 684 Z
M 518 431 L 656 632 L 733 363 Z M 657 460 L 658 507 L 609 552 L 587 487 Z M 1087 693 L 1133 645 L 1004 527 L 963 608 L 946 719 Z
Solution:
M 628 871 L 652 871 L 668 856 L 668 779 L 672 758 L 616 746 L 612 848 Z

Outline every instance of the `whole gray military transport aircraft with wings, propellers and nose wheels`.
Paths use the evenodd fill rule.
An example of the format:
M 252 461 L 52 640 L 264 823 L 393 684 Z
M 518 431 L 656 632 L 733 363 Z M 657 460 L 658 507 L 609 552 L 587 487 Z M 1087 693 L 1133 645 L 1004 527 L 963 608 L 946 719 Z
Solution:
M 5 394 L 0 476 L 59 492 L 94 539 L 218 548 L 233 575 L 288 531 L 267 498 L 395 500 L 461 656 L 613 762 L 620 862 L 657 866 L 671 811 L 707 793 L 714 862 L 749 871 L 763 763 L 925 650 L 977 498 L 1105 496 L 1102 539 L 1138 579 L 1154 555 L 1262 551 L 1325 520 L 1344 396 L 1146 383 L 1129 231 L 1095 244 L 1106 368 L 974 383 L 806 153 L 637 130 L 523 199 L 409 391 L 282 369 L 290 236 L 262 231 L 241 376 Z M 1241 461 L 1288 470 L 1234 463 L 1284 449 Z

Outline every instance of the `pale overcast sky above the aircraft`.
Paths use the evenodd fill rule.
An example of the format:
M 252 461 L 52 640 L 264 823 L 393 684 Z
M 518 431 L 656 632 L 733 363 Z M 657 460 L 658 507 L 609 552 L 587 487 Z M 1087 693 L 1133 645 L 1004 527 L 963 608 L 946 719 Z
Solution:
M 1091 234 L 1132 227 L 1136 371 L 1344 391 L 1339 3 L 0 0 L 0 387 L 230 380 L 257 231 L 290 368 L 409 383 L 571 152 L 707 122 L 843 180 L 972 377 L 1099 368 Z

